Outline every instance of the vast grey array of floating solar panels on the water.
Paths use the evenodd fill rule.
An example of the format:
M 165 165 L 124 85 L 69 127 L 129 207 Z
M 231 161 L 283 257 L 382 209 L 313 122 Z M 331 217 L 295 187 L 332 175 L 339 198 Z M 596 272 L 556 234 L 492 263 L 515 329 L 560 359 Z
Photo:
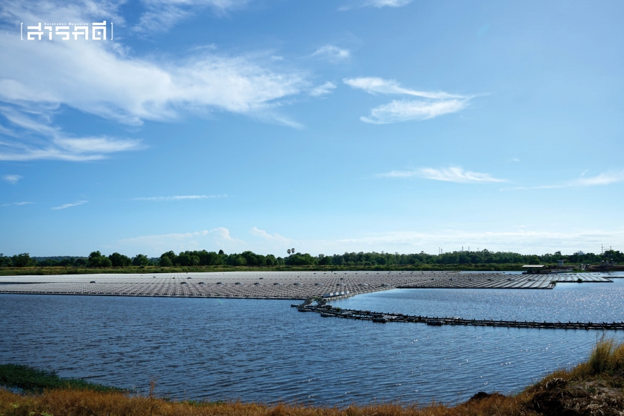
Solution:
M 492 272 L 199 272 L 0 277 L 0 293 L 305 299 L 395 288 L 551 289 L 553 282 L 610 282 L 600 273 L 519 275 Z

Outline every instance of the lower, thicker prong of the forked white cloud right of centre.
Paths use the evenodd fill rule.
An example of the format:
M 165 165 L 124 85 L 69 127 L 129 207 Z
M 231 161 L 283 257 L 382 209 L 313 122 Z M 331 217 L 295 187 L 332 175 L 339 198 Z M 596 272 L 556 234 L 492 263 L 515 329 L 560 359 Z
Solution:
M 458 112 L 466 106 L 465 100 L 444 101 L 399 101 L 379 105 L 370 110 L 370 116 L 360 117 L 361 121 L 372 124 L 397 123 L 399 121 L 426 120 L 433 117 Z

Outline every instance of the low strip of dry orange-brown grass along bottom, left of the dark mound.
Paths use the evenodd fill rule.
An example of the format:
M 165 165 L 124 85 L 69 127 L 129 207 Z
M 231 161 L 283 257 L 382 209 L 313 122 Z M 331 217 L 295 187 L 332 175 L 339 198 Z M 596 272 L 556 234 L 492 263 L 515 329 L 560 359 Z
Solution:
M 0 414 L 16 416 L 476 416 L 523 415 L 515 397 L 494 396 L 454 407 L 431 404 L 404 406 L 312 407 L 297 404 L 202 403 L 128 397 L 88 390 L 49 390 L 42 395 L 18 395 L 0 390 Z

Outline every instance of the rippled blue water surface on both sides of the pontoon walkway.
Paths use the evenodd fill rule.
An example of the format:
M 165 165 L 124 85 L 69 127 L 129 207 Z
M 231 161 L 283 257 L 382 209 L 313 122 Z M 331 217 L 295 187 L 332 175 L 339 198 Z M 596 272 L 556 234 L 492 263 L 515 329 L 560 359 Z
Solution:
M 553 291 L 396 290 L 336 306 L 517 320 L 624 320 L 624 281 Z M 282 300 L 0 295 L 0 362 L 175 398 L 457 401 L 578 363 L 595 331 L 373 324 Z

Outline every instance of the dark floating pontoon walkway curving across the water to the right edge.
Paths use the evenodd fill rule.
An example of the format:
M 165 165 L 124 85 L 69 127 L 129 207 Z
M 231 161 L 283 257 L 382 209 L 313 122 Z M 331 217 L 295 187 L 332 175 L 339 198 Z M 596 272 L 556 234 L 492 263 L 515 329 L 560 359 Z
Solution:
M 297 305 L 293 305 L 297 306 Z M 472 327 L 503 327 L 503 328 L 538 328 L 538 329 L 598 329 L 602 331 L 616 331 L 624 329 L 624 322 L 529 322 L 507 320 L 476 320 L 462 318 L 437 318 L 431 316 L 404 315 L 403 313 L 379 313 L 371 311 L 356 311 L 354 309 L 339 309 L 331 305 L 314 306 L 298 305 L 300 312 L 320 313 L 323 318 L 345 318 L 355 320 L 370 320 L 372 322 L 419 322 L 441 327 L 442 325 L 465 325 Z

